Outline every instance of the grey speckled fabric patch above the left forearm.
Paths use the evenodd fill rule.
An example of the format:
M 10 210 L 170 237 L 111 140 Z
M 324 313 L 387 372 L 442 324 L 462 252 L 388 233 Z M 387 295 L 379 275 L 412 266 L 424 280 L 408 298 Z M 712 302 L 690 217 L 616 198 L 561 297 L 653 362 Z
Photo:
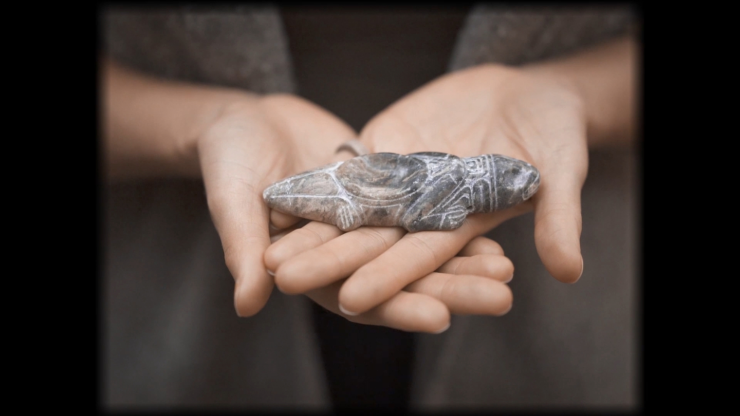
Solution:
M 101 23 L 105 52 L 145 73 L 254 93 L 295 92 L 274 6 L 110 7 Z

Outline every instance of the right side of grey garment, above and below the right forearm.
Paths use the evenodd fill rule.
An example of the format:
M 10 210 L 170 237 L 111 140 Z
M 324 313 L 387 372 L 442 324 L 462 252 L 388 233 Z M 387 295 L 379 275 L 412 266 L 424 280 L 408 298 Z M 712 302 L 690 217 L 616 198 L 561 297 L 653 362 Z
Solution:
M 554 58 L 635 24 L 629 7 L 483 4 L 460 30 L 450 69 Z M 514 306 L 501 318 L 454 317 L 443 335 L 419 335 L 414 406 L 636 406 L 638 163 L 635 150 L 590 152 L 576 284 L 555 281 L 542 266 L 534 215 L 488 235 L 514 263 Z

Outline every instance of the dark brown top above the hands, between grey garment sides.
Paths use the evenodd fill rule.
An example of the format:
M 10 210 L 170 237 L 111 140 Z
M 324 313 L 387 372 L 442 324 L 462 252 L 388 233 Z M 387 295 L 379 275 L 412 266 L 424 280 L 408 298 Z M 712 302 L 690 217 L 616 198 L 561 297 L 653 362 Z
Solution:
M 297 93 L 359 131 L 442 75 L 470 5 L 281 7 Z

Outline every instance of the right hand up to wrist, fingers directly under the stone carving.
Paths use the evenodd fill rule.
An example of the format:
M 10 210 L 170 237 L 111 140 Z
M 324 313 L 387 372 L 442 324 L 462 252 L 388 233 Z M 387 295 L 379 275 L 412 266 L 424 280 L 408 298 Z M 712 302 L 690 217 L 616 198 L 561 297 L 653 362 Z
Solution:
M 308 231 L 273 244 L 266 264 L 287 292 L 310 293 L 336 282 L 337 308 L 351 316 L 418 286 L 418 279 L 444 267 L 477 236 L 534 209 L 534 238 L 543 264 L 559 281 L 574 282 L 582 272 L 585 130 L 579 95 L 548 74 L 482 65 L 437 78 L 374 117 L 360 132 L 360 140 L 372 152 L 437 151 L 461 157 L 499 153 L 519 158 L 539 169 L 539 192 L 519 207 L 471 215 L 453 231 L 407 234 L 397 228 L 361 227 L 343 234 L 334 226 L 312 223 L 304 227 Z M 468 266 L 472 263 L 468 259 Z M 477 301 L 488 296 L 500 303 L 508 288 L 493 264 L 491 257 L 479 258 L 469 272 L 494 279 L 448 279 L 440 281 L 437 290 L 477 293 Z M 510 296 L 508 302 L 510 306 Z

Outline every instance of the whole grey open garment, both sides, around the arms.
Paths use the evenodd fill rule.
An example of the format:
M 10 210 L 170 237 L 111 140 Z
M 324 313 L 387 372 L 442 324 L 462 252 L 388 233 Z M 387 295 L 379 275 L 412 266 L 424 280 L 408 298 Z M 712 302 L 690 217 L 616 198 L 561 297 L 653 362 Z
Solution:
M 476 7 L 449 69 L 571 53 L 634 21 L 625 8 L 579 10 Z M 296 90 L 275 7 L 108 9 L 101 23 L 105 52 L 146 73 L 257 93 Z M 635 405 L 639 158 L 626 150 L 590 157 L 581 280 L 565 285 L 548 275 L 531 215 L 495 229 L 491 237 L 517 268 L 514 309 L 502 318 L 454 317 L 448 332 L 418 335 L 414 406 Z M 200 182 L 107 184 L 103 243 L 105 405 L 328 409 L 309 301 L 275 291 L 255 317 L 235 316 Z

